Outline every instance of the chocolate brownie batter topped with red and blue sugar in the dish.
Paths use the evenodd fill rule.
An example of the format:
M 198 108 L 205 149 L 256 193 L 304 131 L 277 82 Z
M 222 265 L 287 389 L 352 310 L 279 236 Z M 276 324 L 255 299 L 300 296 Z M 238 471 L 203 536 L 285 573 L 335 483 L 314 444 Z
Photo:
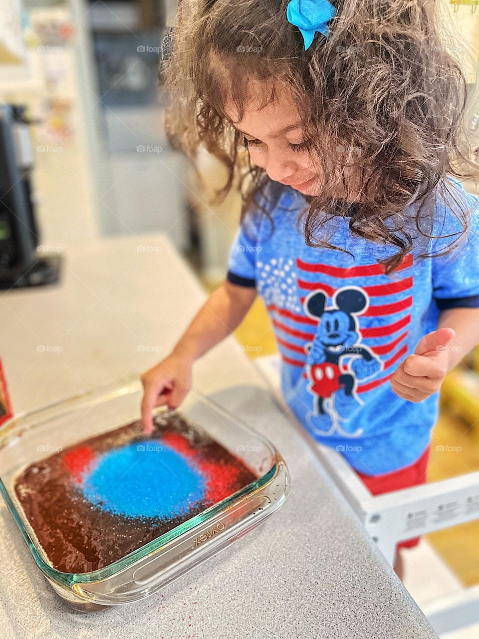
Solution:
M 188 498 L 165 514 L 167 511 L 158 502 L 161 491 L 167 491 L 165 501 L 168 498 L 171 504 L 176 494 L 172 492 L 172 485 L 181 491 L 185 486 L 188 490 L 189 484 L 185 484 L 174 470 L 171 481 L 163 484 L 154 483 L 154 473 L 151 477 L 148 474 L 143 477 L 142 462 L 146 458 L 138 454 L 135 463 L 139 466 L 134 473 L 144 481 L 144 494 L 139 494 L 138 484 L 132 481 L 133 470 L 116 479 L 112 494 L 124 491 L 125 499 L 132 499 L 133 506 L 144 508 L 148 516 L 132 516 L 121 499 L 121 506 L 115 506 L 113 501 L 102 502 L 101 491 L 88 484 L 92 469 L 98 468 L 105 456 L 113 455 L 114 460 L 115 454 L 132 450 L 133 444 L 133 452 L 136 449 L 154 451 L 156 447 L 163 453 L 168 450 L 178 454 L 179 461 L 184 459 L 192 469 L 188 471 L 190 476 L 199 478 L 201 499 L 200 493 L 191 491 Z M 164 456 L 160 452 L 157 457 L 158 473 L 161 470 L 165 478 L 168 471 L 162 466 Z M 150 468 L 154 463 L 156 458 L 150 458 Z M 145 472 L 148 473 L 148 469 Z M 33 463 L 17 477 L 15 493 L 52 566 L 65 573 L 87 573 L 125 557 L 255 479 L 257 477 L 247 466 L 199 427 L 179 415 L 169 414 L 155 417 L 153 433 L 149 436 L 144 434 L 141 422 L 137 421 Z M 107 491 L 109 485 L 107 482 Z M 151 498 L 148 501 L 149 486 L 156 501 Z M 155 504 L 158 504 L 158 514 L 152 515 L 151 508 Z M 171 505 L 169 507 L 171 509 Z

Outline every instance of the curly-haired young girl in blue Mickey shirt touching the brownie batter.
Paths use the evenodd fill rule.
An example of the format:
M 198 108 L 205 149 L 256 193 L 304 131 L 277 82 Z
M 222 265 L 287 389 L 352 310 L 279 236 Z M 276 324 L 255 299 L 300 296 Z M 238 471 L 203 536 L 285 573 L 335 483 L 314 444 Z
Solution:
M 182 6 L 167 127 L 190 157 L 203 144 L 222 160 L 221 193 L 238 185 L 243 215 L 225 282 L 142 376 L 147 429 L 259 294 L 300 423 L 374 494 L 425 481 L 437 391 L 479 342 L 477 199 L 456 179 L 476 171 L 460 142 L 466 85 L 434 7 Z

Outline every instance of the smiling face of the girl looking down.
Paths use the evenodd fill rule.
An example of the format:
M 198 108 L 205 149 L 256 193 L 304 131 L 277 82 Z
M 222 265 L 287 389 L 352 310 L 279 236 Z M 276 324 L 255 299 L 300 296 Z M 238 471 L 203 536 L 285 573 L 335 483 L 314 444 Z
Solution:
M 254 164 L 262 167 L 271 180 L 289 185 L 305 195 L 319 189 L 318 176 L 312 167 L 309 141 L 301 128 L 300 116 L 291 96 L 278 92 L 280 98 L 255 111 L 245 109 L 243 119 L 229 105 L 225 107 L 232 125 L 245 136 Z

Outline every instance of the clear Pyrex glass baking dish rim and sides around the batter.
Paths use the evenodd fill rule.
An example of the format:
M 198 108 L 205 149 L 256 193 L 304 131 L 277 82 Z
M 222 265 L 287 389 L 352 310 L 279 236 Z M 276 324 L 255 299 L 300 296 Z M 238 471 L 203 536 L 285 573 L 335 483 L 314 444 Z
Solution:
M 89 573 L 63 573 L 49 561 L 15 495 L 29 465 L 91 436 L 139 419 L 142 387 L 128 380 L 10 419 L 0 429 L 0 491 L 50 585 L 80 610 L 102 610 L 149 596 L 251 530 L 285 500 L 289 473 L 273 445 L 194 390 L 179 414 L 241 459 L 257 479 L 129 555 Z M 168 413 L 167 408 L 155 413 Z

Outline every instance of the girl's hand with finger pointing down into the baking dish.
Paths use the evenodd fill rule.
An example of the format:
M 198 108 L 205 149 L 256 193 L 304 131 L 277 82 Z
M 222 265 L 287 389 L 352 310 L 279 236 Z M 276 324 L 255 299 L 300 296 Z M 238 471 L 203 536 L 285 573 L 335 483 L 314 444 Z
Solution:
M 191 381 L 192 363 L 174 353 L 142 374 L 141 420 L 148 435 L 153 431 L 153 408 L 162 404 L 178 408 L 191 388 Z

